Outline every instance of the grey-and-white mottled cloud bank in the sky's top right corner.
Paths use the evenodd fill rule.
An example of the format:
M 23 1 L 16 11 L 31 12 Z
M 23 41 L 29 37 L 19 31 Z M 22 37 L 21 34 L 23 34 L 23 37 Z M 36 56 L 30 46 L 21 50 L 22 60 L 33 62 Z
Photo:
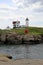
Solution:
M 19 10 L 29 8 L 34 12 L 43 12 L 43 0 L 12 0 L 14 6 Z

